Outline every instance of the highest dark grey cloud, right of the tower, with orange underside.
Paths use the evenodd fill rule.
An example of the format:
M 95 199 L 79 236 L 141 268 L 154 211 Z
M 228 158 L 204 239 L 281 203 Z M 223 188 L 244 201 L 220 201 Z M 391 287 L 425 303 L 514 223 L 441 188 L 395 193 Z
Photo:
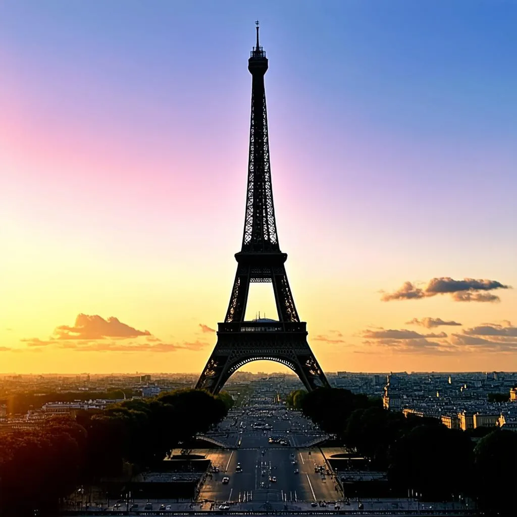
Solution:
M 497 280 L 464 278 L 454 280 L 450 277 L 432 278 L 427 286 L 417 287 L 412 282 L 404 282 L 402 287 L 393 293 L 382 292 L 382 301 L 412 300 L 428 298 L 437 294 L 450 294 L 454 301 L 499 301 L 499 297 L 488 293 L 494 289 L 511 289 Z

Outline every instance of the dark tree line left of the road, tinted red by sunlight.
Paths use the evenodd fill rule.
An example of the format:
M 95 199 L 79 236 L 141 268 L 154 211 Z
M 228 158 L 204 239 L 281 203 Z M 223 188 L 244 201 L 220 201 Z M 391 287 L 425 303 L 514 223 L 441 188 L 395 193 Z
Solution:
M 54 512 L 81 484 L 141 472 L 225 418 L 233 403 L 193 389 L 53 418 L 0 440 L 0 514 Z

